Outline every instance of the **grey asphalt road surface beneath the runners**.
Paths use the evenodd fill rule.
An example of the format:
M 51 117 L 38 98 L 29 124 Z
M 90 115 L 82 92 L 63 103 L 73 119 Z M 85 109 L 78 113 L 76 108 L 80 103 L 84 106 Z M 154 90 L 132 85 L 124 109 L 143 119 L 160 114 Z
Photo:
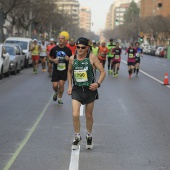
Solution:
M 146 55 L 141 60 L 139 77 L 128 79 L 124 55 L 119 77 L 106 76 L 94 109 L 94 148 L 85 149 L 83 115 L 78 152 L 71 151 L 66 91 L 58 106 L 47 73 L 34 75 L 29 68 L 3 78 L 0 170 L 170 170 L 170 88 L 157 81 L 170 73 L 170 61 Z

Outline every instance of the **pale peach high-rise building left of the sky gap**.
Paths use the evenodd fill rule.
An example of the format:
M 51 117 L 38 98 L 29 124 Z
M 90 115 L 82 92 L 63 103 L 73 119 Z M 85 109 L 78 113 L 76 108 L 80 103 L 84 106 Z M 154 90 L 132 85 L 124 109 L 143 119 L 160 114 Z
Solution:
M 81 7 L 80 9 L 80 28 L 85 31 L 91 31 L 91 9 L 88 7 Z

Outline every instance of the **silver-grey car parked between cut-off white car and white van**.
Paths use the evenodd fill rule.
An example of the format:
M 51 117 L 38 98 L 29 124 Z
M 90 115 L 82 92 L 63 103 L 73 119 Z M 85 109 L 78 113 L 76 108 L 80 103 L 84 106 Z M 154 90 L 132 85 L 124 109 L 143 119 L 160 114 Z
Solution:
M 21 59 L 15 44 L 4 44 L 4 47 L 10 57 L 10 71 L 16 75 L 21 70 Z

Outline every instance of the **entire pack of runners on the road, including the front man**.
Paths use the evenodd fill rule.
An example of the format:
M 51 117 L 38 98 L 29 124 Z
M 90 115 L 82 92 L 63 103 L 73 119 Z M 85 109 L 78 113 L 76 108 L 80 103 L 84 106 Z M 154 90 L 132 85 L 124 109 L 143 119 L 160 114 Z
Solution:
M 48 72 L 51 75 L 51 82 L 54 90 L 53 101 L 58 101 L 63 105 L 62 96 L 64 85 L 68 79 L 68 95 L 72 98 L 72 115 L 75 137 L 72 143 L 72 149 L 79 148 L 82 140 L 80 135 L 80 107 L 85 105 L 86 115 L 86 149 L 93 148 L 92 127 L 93 127 L 93 108 L 94 101 L 98 99 L 97 88 L 101 86 L 105 78 L 105 63 L 108 58 L 108 74 L 113 77 L 118 76 L 122 50 L 119 43 L 109 40 L 108 45 L 105 42 L 97 44 L 91 43 L 87 38 L 80 37 L 76 42 L 73 39 L 66 43 L 66 37 L 59 35 L 58 44 L 54 39 L 50 39 L 50 44 L 45 45 L 44 41 L 40 46 L 34 40 L 34 47 L 31 49 L 33 54 L 33 72 L 37 73 L 37 51 L 40 51 L 42 71 L 46 71 L 46 58 L 48 62 Z M 140 56 L 142 49 L 137 42 L 136 47 L 130 44 L 125 54 L 128 54 L 129 78 L 132 72 L 139 72 Z M 35 56 L 34 56 L 35 54 Z M 95 71 L 100 72 L 96 81 Z

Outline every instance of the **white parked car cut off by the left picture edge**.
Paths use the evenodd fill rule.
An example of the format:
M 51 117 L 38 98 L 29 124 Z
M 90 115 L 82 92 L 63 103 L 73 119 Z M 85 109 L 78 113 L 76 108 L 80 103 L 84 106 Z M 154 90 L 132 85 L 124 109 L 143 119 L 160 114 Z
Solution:
M 3 75 L 10 76 L 10 58 L 4 45 L 0 44 L 0 79 L 2 79 Z

